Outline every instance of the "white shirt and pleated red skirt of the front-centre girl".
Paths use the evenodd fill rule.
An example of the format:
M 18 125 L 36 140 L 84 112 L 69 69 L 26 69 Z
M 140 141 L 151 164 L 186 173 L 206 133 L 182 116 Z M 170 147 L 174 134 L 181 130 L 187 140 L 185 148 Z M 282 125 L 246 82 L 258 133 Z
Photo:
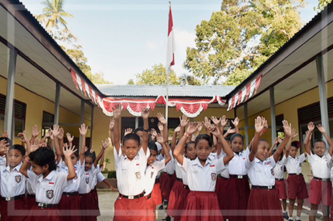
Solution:
M 217 174 L 226 170 L 223 158 L 206 159 L 202 166 L 198 157 L 194 160 L 183 159 L 178 165 L 186 172 L 190 193 L 187 195 L 180 221 L 209 220 L 222 221 L 215 190 Z

